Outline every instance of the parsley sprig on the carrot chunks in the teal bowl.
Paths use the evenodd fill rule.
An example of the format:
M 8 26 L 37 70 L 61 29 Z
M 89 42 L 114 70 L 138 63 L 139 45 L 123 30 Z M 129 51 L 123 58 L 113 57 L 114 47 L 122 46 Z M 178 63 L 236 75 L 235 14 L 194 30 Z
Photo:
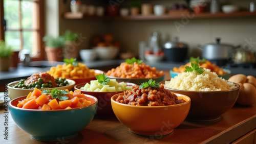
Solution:
M 42 90 L 42 94 L 49 93 L 51 93 L 53 99 L 59 99 L 60 101 L 65 101 L 69 99 L 69 97 L 65 95 L 69 93 L 67 90 L 61 90 L 56 88 L 52 89 L 51 91 L 49 89 Z

